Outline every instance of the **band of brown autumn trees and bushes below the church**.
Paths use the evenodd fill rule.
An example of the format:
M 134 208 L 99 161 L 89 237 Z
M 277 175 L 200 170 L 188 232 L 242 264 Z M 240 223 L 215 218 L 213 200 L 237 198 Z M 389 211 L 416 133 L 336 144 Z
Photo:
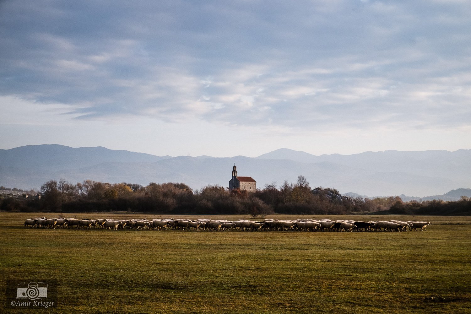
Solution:
M 470 214 L 471 200 L 410 201 L 400 197 L 350 198 L 332 188 L 312 189 L 303 176 L 295 183 L 284 181 L 265 185 L 255 193 L 208 185 L 192 190 L 184 183 L 150 183 L 147 186 L 130 183 L 110 184 L 85 180 L 72 184 L 60 179 L 41 185 L 40 197 L 0 197 L 0 209 L 5 211 L 47 212 L 151 212 L 162 214 L 248 214 L 266 215 L 345 215 L 351 213 L 391 213 L 452 215 Z

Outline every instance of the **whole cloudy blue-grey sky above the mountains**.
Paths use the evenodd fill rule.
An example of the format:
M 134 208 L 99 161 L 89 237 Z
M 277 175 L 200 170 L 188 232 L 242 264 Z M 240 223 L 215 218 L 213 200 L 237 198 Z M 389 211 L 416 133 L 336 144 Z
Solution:
M 471 149 L 471 1 L 2 0 L 0 149 Z

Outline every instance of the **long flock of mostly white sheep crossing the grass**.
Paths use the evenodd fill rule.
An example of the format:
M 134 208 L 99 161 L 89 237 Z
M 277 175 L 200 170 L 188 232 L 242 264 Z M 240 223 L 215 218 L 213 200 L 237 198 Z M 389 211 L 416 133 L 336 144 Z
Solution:
M 26 219 L 25 227 L 42 228 L 102 228 L 108 230 L 240 230 L 240 231 L 426 231 L 428 221 L 353 221 L 330 219 L 274 220 L 211 220 L 211 219 L 75 219 L 36 217 Z

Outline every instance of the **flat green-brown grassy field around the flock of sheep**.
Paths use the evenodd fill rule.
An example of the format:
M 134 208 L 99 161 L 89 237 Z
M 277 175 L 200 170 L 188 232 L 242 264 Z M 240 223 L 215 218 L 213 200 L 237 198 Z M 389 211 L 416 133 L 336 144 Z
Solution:
M 401 233 L 24 228 L 44 215 L 60 214 L 0 213 L 0 275 L 57 279 L 51 312 L 471 313 L 471 217 L 328 216 L 431 222 Z M 7 307 L 0 285 L 0 313 L 28 313 Z

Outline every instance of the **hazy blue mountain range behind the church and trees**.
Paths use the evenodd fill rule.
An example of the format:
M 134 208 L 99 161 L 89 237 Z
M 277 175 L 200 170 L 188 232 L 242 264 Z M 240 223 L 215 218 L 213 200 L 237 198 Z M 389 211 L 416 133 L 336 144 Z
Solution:
M 72 148 L 28 145 L 0 150 L 0 185 L 39 188 L 50 179 L 72 183 L 86 179 L 110 183 L 183 182 L 193 189 L 228 186 L 232 166 L 250 176 L 257 187 L 306 177 L 312 188 L 335 188 L 341 193 L 424 197 L 471 187 L 471 150 L 385 151 L 352 155 L 315 156 L 282 148 L 251 158 L 244 156 L 154 156 L 114 151 L 105 147 Z

